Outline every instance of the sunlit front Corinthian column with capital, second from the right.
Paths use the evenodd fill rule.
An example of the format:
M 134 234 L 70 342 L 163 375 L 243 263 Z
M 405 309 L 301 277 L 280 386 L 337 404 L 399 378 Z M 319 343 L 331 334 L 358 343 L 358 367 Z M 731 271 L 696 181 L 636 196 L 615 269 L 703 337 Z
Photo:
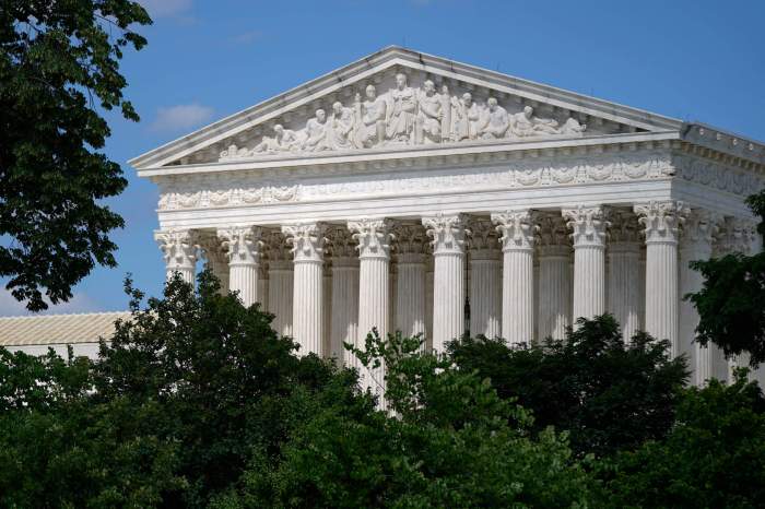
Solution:
M 573 230 L 574 317 L 592 318 L 605 311 L 605 211 L 581 206 L 562 211 Z

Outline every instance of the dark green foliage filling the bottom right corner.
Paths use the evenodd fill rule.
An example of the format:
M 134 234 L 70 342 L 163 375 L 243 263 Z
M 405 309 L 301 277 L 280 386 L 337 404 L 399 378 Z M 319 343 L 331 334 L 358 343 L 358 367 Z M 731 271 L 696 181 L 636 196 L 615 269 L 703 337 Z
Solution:
M 599 466 L 611 507 L 765 507 L 765 400 L 740 372 L 688 389 L 663 441 Z

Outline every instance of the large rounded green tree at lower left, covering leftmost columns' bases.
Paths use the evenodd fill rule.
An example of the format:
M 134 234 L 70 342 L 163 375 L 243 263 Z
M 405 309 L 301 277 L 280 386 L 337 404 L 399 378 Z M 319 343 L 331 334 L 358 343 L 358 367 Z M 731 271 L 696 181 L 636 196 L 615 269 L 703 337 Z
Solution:
M 0 506 L 205 507 L 320 411 L 374 412 L 353 371 L 296 356 L 208 273 L 145 307 L 127 287 L 92 363 L 0 350 Z

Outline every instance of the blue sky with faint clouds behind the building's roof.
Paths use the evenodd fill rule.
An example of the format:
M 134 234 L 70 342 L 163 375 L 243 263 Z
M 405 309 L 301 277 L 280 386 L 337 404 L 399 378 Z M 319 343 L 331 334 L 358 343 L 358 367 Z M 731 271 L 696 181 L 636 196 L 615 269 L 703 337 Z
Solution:
M 132 272 L 164 277 L 157 191 L 126 161 L 392 44 L 765 140 L 765 2 L 142 0 L 149 46 L 129 52 L 126 95 L 142 117 L 109 115 L 106 152 L 130 181 L 116 269 L 96 269 L 51 312 L 123 309 Z M 23 313 L 0 292 L 0 315 Z

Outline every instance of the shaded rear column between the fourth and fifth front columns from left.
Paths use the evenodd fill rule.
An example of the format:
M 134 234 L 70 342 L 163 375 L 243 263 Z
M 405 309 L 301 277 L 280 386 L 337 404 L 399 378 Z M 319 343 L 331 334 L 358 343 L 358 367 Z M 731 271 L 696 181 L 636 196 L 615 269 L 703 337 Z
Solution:
M 425 232 L 421 225 L 393 229 L 398 250 L 396 330 L 404 336 L 425 334 Z

